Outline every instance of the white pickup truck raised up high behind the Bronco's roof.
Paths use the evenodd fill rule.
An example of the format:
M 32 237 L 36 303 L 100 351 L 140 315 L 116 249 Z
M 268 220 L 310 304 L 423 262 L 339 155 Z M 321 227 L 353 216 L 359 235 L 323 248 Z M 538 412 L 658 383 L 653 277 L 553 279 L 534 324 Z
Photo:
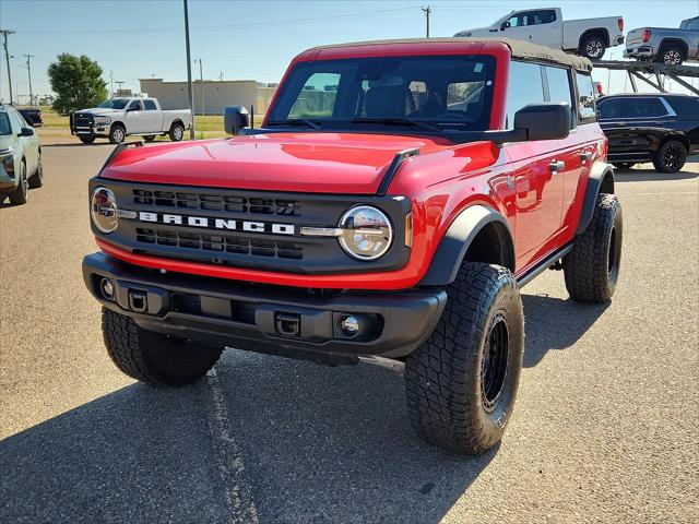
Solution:
M 559 8 L 528 9 L 512 11 L 489 27 L 462 31 L 454 36 L 507 36 L 600 60 L 607 48 L 624 44 L 624 19 L 605 16 L 564 22 Z

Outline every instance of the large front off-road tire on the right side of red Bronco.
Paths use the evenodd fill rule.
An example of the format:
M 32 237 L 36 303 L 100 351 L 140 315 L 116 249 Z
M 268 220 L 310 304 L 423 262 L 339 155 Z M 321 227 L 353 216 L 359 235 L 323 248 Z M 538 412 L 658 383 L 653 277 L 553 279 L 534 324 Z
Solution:
M 522 300 L 509 270 L 475 262 L 464 262 L 447 294 L 437 327 L 406 358 L 407 407 L 413 428 L 427 442 L 479 454 L 502 438 L 512 414 L 524 355 Z M 497 380 L 488 381 L 486 355 L 494 343 L 501 353 L 493 362 L 505 368 L 494 364 Z M 487 384 L 496 385 L 487 390 L 490 397 Z

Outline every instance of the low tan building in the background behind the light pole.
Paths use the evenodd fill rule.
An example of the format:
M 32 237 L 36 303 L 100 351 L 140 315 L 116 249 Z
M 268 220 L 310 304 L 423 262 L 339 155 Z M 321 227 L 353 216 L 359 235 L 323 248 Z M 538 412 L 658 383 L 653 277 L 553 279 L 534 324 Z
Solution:
M 187 82 L 165 82 L 163 79 L 142 79 L 141 93 L 157 98 L 163 109 L 182 109 L 187 102 Z M 272 85 L 272 86 L 270 86 Z M 254 107 L 256 114 L 263 114 L 276 91 L 275 84 L 260 84 L 254 80 L 204 80 L 192 82 L 196 115 L 223 115 L 226 106 Z M 202 100 L 203 98 L 203 100 Z

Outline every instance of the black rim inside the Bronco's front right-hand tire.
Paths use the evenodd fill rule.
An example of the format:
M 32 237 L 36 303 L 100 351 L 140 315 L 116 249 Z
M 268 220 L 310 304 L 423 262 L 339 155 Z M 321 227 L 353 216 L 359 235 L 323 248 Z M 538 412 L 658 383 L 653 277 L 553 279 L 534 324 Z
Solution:
M 498 406 L 507 379 L 509 356 L 507 319 L 503 311 L 498 311 L 490 322 L 481 364 L 481 397 L 486 412 Z

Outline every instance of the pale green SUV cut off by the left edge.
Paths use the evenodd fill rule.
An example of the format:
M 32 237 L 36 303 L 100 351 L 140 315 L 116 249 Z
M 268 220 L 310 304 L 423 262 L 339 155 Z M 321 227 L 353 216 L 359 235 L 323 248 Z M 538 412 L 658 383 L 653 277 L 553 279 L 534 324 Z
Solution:
M 0 105 L 0 203 L 24 204 L 44 183 L 42 148 L 34 129 L 12 106 Z

